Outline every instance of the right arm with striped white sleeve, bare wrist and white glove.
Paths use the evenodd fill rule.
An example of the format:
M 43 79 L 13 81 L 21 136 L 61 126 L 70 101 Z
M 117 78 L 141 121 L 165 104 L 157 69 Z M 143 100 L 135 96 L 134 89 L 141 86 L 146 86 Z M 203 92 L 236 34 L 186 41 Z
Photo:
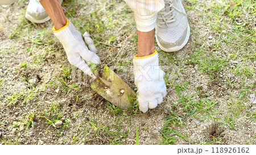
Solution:
M 134 11 L 138 32 L 138 54 L 133 58 L 133 65 L 139 109 L 147 112 L 148 108 L 155 108 L 162 103 L 167 94 L 164 72 L 160 69 L 158 53 L 154 50 L 156 18 L 164 7 L 164 1 L 125 1 Z

